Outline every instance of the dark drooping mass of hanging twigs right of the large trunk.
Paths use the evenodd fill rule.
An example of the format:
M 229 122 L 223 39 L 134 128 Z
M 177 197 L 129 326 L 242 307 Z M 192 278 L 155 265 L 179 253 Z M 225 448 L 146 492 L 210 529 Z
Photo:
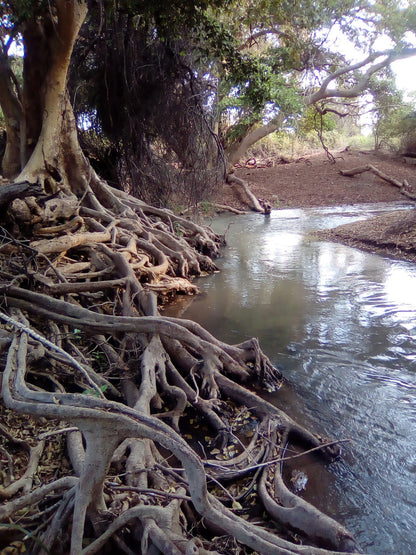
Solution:
M 84 27 L 71 73 L 75 111 L 88 127 L 84 146 L 107 177 L 144 200 L 166 205 L 180 195 L 195 204 L 222 179 L 224 164 L 192 29 L 179 32 L 178 21 L 168 29 L 163 13 L 139 20 L 117 12 L 92 50 L 98 24 L 93 15 Z

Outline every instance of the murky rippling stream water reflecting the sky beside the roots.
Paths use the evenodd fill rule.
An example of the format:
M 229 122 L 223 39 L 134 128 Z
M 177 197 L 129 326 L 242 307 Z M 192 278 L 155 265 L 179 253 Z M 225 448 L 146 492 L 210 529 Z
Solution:
M 377 555 L 416 553 L 416 265 L 309 233 L 392 208 L 220 217 L 221 273 L 175 308 L 229 343 L 258 337 L 289 382 L 268 399 L 351 439 L 328 470 L 303 468 L 305 494 Z

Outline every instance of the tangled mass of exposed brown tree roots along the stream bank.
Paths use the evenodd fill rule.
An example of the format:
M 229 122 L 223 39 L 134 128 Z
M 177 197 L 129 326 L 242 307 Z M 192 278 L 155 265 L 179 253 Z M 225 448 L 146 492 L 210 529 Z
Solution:
M 17 188 L 7 197 L 7 530 L 26 535 L 34 554 L 354 551 L 340 524 L 283 481 L 276 461 L 289 437 L 324 458 L 338 453 L 247 389 L 254 382 L 273 390 L 281 380 L 258 341 L 228 345 L 159 314 L 155 292 L 195 292 L 189 278 L 215 270 L 223 238 L 94 175 L 88 191 L 46 199 Z M 20 463 L 13 442 L 28 454 Z M 267 513 L 260 525 L 253 503 Z M 290 541 L 288 528 L 306 545 Z M 0 549 L 6 538 L 0 531 Z

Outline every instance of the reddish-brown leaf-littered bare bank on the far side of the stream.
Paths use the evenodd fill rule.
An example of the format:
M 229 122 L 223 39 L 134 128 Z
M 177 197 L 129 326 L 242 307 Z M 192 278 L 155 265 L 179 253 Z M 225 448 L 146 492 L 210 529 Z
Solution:
M 339 172 L 372 164 L 383 173 L 400 181 L 406 179 L 416 187 L 416 165 L 386 153 L 348 151 L 334 156 L 335 164 L 328 161 L 325 153 L 320 153 L 274 167 L 237 168 L 235 173 L 249 183 L 258 198 L 268 201 L 274 209 L 391 201 L 414 204 L 397 187 L 370 172 L 354 177 L 345 177 Z M 247 208 L 229 185 L 224 186 L 217 200 L 234 208 Z M 321 232 L 320 237 L 416 261 L 416 216 L 413 211 L 395 212 L 367 222 L 340 226 Z

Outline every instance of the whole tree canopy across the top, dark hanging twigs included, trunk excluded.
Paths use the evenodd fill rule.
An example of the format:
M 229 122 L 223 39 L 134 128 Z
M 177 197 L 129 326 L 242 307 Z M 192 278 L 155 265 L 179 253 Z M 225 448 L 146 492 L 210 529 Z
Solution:
M 2 3 L 5 67 L 13 37 L 42 44 L 33 21 L 45 6 Z M 89 131 L 81 142 L 108 178 L 156 203 L 184 188 L 192 202 L 199 200 L 207 183 L 224 176 L 222 149 L 231 167 L 250 144 L 293 125 L 308 106 L 357 113 L 374 77 L 415 54 L 415 8 L 397 0 L 92 2 L 90 8 L 70 73 L 80 130 Z M 30 76 L 30 60 L 26 65 L 23 90 L 10 73 L 2 94 L 7 121 L 19 122 L 8 130 L 6 175 L 28 158 L 40 129 L 41 107 L 36 116 L 23 109 L 22 120 L 25 91 L 41 81 L 38 71 Z

